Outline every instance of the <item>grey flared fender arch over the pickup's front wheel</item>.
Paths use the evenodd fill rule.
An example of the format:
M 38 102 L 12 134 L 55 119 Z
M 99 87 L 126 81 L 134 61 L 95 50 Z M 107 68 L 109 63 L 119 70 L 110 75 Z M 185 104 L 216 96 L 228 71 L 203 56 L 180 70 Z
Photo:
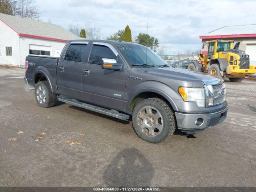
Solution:
M 148 85 L 151 86 L 148 86 Z M 130 91 L 129 101 L 127 105 L 126 111 L 129 114 L 132 114 L 132 104 L 133 101 L 140 95 L 146 92 L 151 92 L 154 94 L 158 94 L 162 96 L 169 104 L 172 106 L 173 110 L 177 111 L 178 108 L 174 102 L 174 98 L 178 96 L 178 93 L 176 93 L 170 86 L 162 83 L 162 82 L 156 82 L 156 81 L 145 81 L 142 82 L 135 87 L 132 88 Z M 174 97 L 174 98 L 173 98 Z M 150 98 L 150 97 L 149 97 Z

